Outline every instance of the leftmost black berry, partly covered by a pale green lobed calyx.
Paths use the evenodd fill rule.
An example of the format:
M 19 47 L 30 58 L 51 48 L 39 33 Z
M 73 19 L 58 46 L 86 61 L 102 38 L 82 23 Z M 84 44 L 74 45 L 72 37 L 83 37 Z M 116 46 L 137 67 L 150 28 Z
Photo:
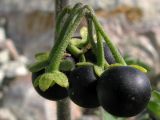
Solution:
M 35 79 L 44 73 L 44 69 L 35 73 L 32 73 L 32 84 L 34 83 Z M 46 91 L 42 91 L 39 86 L 34 87 L 37 93 L 48 99 L 48 100 L 61 100 L 68 96 L 67 89 L 63 88 L 57 84 L 53 85 L 52 87 L 48 88 Z

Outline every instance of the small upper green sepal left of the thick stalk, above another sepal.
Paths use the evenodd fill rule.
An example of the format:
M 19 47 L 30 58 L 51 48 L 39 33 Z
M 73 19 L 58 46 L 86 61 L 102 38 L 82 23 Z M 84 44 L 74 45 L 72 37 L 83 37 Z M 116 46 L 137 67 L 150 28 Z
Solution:
M 41 52 L 35 55 L 37 61 L 44 61 L 49 58 L 49 52 Z

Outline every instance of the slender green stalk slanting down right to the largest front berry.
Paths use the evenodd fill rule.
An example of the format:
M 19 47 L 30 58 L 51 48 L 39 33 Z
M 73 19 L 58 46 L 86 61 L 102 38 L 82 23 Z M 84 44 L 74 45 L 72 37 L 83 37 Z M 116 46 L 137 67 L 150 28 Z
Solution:
M 115 47 L 115 45 L 111 42 L 111 40 L 109 39 L 109 37 L 106 35 L 104 29 L 102 28 L 101 24 L 98 22 L 96 16 L 93 13 L 92 8 L 90 8 L 88 6 L 88 9 L 90 11 L 92 11 L 89 15 L 92 17 L 93 22 L 96 26 L 96 28 L 99 30 L 99 32 L 101 33 L 101 35 L 103 36 L 104 40 L 106 41 L 108 47 L 110 48 L 116 62 L 121 63 L 123 65 L 126 65 L 126 62 L 124 61 L 123 57 L 121 56 L 121 54 L 119 53 L 118 49 Z

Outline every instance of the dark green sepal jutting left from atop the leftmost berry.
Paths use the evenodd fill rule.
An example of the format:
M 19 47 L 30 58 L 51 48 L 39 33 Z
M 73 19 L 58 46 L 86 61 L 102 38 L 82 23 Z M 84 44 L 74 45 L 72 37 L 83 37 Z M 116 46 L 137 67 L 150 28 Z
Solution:
M 38 72 L 38 71 L 44 69 L 47 66 L 48 66 L 48 60 L 37 61 L 36 63 L 30 64 L 28 66 L 28 69 L 31 72 Z

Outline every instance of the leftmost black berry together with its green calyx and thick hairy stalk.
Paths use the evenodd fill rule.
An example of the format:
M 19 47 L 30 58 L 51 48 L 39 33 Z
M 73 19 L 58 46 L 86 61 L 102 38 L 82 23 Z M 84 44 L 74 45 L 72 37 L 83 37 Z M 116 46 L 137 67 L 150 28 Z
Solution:
M 52 99 L 53 97 L 50 98 L 50 96 L 52 95 L 49 94 L 54 94 L 55 92 L 54 95 L 56 95 L 57 90 L 57 94 L 59 93 L 59 96 L 58 98 L 56 98 L 56 96 L 55 99 L 53 98 L 52 100 L 60 100 L 66 96 L 66 91 L 63 90 L 68 87 L 69 83 L 67 76 L 64 74 L 66 71 L 60 72 L 60 62 L 69 44 L 69 40 L 78 27 L 78 24 L 80 23 L 85 12 L 86 9 L 82 7 L 82 4 L 76 4 L 70 11 L 68 18 L 64 23 L 64 29 L 59 29 L 59 27 L 57 27 L 56 31 L 57 34 L 59 34 L 57 37 L 57 42 L 53 46 L 48 58 L 38 60 L 35 64 L 30 66 L 30 70 L 33 72 L 33 81 L 35 88 L 38 89 L 38 93 L 48 99 Z M 62 17 L 63 15 L 60 16 Z M 59 26 L 59 24 L 57 26 Z M 64 66 L 66 67 L 66 65 Z M 44 71 L 39 71 L 42 68 L 44 68 Z M 64 87 L 64 89 L 61 89 L 62 87 Z M 60 95 L 60 93 L 62 93 L 62 95 Z

